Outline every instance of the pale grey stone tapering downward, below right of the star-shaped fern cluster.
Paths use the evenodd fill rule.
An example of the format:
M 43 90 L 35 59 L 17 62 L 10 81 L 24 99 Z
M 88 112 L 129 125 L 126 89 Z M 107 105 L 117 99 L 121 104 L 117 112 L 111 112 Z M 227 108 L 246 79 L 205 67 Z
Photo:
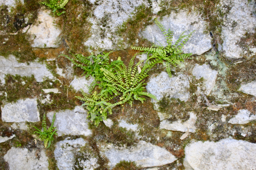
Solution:
M 210 66 L 206 64 L 196 64 L 192 74 L 196 76 L 196 79 L 204 78 L 205 94 L 209 95 L 215 85 L 218 71 L 210 69 Z

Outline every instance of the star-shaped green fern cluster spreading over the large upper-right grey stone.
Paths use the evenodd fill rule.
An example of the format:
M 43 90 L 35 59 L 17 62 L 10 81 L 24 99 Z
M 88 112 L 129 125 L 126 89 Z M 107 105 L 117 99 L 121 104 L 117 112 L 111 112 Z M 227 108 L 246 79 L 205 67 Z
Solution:
M 175 42 L 175 44 L 172 44 L 172 37 L 173 37 L 173 31 L 166 31 L 166 29 L 163 27 L 163 25 L 155 19 L 156 25 L 160 28 L 161 32 L 164 34 L 167 46 L 164 47 L 161 43 L 160 46 L 154 45 L 150 48 L 144 48 L 144 47 L 134 47 L 132 46 L 132 49 L 142 51 L 141 53 L 148 53 L 148 57 L 155 58 L 160 60 L 168 73 L 170 77 L 172 77 L 171 74 L 171 65 L 176 67 L 180 64 L 180 62 L 183 62 L 184 59 L 189 58 L 192 54 L 184 54 L 181 48 L 185 45 L 185 43 L 188 41 L 188 39 L 191 37 L 191 33 L 188 35 L 184 35 L 185 31 L 181 33 L 179 39 Z

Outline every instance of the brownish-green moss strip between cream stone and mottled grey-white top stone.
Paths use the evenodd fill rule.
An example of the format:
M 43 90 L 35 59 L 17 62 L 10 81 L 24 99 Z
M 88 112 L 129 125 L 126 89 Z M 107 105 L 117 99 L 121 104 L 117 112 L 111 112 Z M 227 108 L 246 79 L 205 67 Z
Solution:
M 83 42 L 90 37 L 91 23 L 88 18 L 92 16 L 92 4 L 88 0 L 69 0 L 65 6 L 66 13 L 58 21 L 65 41 L 73 54 L 88 55 Z

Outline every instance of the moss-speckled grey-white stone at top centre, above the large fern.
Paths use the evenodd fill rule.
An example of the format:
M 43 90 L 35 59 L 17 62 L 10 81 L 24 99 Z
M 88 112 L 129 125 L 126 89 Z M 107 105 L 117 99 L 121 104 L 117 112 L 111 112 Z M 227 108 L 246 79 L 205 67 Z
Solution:
M 94 10 L 91 37 L 84 42 L 85 46 L 96 50 L 124 49 L 123 38 L 116 35 L 117 26 L 123 24 L 134 12 L 135 7 L 145 4 L 143 0 L 100 0 Z

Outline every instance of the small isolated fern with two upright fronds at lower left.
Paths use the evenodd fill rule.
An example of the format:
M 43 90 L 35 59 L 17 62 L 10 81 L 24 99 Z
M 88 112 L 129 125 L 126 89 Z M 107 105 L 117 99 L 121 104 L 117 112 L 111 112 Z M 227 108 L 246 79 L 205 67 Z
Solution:
M 53 127 L 53 124 L 54 124 L 55 119 L 56 119 L 55 114 L 56 113 L 54 113 L 54 115 L 53 115 L 52 124 L 51 124 L 51 126 L 48 129 L 47 129 L 47 126 L 46 126 L 46 116 L 45 116 L 45 114 L 43 116 L 43 121 L 42 121 L 43 131 L 39 130 L 35 126 L 33 126 L 37 130 L 37 131 L 34 132 L 34 134 L 35 133 L 39 134 L 39 137 L 41 138 L 41 140 L 44 141 L 44 147 L 45 148 L 49 148 L 50 147 L 50 145 L 51 145 L 51 143 L 53 141 L 53 135 L 54 134 L 57 135 L 57 133 L 56 133 L 57 130 L 54 130 L 56 127 Z

